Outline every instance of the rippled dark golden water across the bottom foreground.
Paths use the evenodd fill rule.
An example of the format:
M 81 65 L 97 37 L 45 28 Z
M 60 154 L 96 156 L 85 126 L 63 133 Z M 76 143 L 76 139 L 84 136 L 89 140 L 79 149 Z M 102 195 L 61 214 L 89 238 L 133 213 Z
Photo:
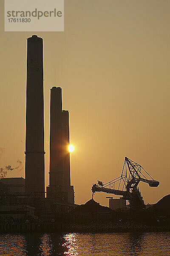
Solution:
M 170 256 L 170 232 L 1 234 L 0 256 Z

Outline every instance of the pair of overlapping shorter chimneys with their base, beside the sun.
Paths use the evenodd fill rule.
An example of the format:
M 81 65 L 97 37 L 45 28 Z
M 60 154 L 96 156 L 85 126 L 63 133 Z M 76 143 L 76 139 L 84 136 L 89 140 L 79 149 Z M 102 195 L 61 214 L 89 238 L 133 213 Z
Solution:
M 68 111 L 62 111 L 62 89 L 52 87 L 50 104 L 50 183 L 47 198 L 74 204 L 74 187 L 70 186 Z

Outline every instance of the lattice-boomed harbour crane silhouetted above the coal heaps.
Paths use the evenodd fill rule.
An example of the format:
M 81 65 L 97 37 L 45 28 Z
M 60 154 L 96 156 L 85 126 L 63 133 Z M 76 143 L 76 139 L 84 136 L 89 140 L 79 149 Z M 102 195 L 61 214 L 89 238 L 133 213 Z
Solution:
M 105 184 L 98 180 L 97 184 L 92 185 L 92 198 L 95 192 L 122 195 L 123 199 L 129 201 L 130 208 L 145 208 L 138 188 L 140 181 L 148 183 L 150 187 L 159 186 L 159 181 L 154 180 L 139 163 L 125 157 L 121 176 Z

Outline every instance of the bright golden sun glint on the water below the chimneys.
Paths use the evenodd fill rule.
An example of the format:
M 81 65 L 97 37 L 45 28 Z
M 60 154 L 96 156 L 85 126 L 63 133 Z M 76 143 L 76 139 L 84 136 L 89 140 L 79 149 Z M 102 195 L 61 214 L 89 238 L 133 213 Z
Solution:
M 64 239 L 66 242 L 62 244 L 63 247 L 67 248 L 68 251 L 64 252 L 65 255 L 68 256 L 77 256 L 79 253 L 77 253 L 77 239 L 76 239 L 76 234 L 67 234 L 64 236 Z

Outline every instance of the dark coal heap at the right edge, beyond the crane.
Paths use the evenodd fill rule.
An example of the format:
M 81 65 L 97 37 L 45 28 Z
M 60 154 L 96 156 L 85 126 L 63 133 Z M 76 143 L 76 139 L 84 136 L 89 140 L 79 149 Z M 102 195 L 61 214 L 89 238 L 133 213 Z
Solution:
M 148 212 L 159 212 L 165 215 L 170 214 L 170 195 L 165 195 L 152 207 L 147 209 Z

